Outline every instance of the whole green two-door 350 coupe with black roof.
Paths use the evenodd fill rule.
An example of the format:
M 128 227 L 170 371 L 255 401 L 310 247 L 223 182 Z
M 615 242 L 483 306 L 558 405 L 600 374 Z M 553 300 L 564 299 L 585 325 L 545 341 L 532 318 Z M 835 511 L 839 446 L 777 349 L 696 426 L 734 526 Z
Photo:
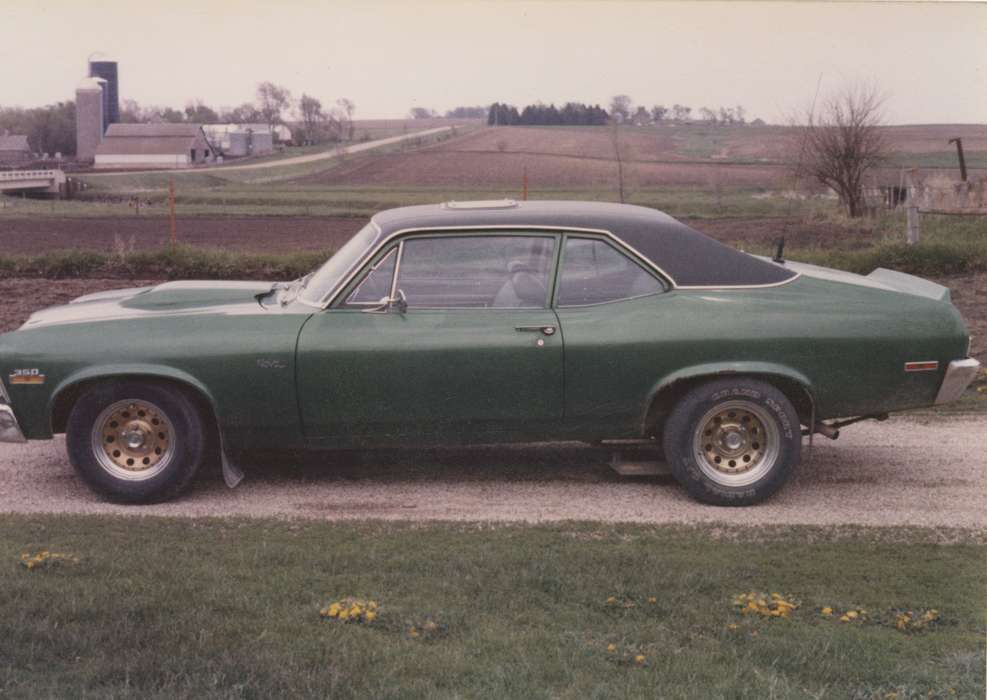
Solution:
M 114 501 L 209 456 L 637 441 L 704 502 L 774 493 L 804 436 L 952 401 L 976 374 L 949 290 L 755 257 L 653 209 L 382 212 L 291 283 L 80 297 L 0 336 L 0 440 L 66 433 Z M 839 420 L 843 419 L 843 420 Z

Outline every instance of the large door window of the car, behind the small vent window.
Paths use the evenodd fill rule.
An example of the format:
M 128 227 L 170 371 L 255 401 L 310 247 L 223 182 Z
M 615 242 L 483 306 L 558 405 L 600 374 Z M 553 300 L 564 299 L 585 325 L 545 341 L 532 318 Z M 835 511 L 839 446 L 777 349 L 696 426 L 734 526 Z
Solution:
M 545 308 L 555 238 L 452 236 L 402 244 L 397 288 L 409 309 Z

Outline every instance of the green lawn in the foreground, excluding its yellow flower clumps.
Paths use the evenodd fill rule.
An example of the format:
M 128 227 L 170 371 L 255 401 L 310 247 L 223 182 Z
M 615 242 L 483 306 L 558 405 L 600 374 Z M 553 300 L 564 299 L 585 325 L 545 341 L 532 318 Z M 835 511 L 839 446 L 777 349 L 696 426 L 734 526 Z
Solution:
M 728 532 L 0 516 L 0 694 L 983 697 L 982 538 Z M 19 565 L 41 548 L 80 562 Z M 802 604 L 752 619 L 732 605 L 749 590 Z M 320 619 L 350 595 L 379 619 Z M 827 605 L 872 621 L 825 619 Z M 902 633 L 899 608 L 942 620 Z M 434 633 L 409 636 L 429 619 Z

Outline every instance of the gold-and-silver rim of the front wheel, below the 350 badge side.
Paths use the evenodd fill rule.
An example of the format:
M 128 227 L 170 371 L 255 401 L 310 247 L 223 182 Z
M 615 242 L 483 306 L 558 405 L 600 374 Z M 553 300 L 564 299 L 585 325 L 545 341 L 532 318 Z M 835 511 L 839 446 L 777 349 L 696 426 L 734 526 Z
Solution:
M 158 406 L 143 399 L 110 404 L 93 424 L 92 451 L 109 474 L 146 481 L 164 471 L 175 454 L 175 429 Z

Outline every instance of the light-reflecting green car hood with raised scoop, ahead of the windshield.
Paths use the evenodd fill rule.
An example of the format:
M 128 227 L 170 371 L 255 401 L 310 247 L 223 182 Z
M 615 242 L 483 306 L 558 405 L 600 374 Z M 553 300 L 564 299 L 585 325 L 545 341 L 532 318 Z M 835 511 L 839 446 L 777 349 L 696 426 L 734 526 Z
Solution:
M 21 328 L 63 323 L 90 323 L 144 316 L 202 312 L 239 313 L 260 310 L 259 295 L 270 282 L 166 282 L 97 292 L 53 306 L 30 316 Z

